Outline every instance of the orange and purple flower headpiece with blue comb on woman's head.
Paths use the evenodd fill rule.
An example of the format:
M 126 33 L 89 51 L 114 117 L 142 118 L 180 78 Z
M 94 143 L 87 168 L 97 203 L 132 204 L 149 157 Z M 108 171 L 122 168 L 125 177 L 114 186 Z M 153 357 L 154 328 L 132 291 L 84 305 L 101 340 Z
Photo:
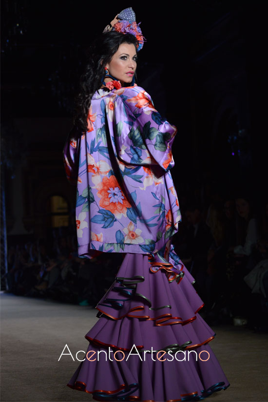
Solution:
M 121 32 L 122 34 L 132 34 L 136 37 L 137 44 L 137 52 L 142 49 L 143 43 L 146 40 L 142 35 L 141 29 L 139 27 L 140 22 L 136 23 L 136 16 L 132 9 L 132 7 L 126 8 L 121 11 L 113 21 L 107 25 L 103 32 L 108 31 L 116 31 Z

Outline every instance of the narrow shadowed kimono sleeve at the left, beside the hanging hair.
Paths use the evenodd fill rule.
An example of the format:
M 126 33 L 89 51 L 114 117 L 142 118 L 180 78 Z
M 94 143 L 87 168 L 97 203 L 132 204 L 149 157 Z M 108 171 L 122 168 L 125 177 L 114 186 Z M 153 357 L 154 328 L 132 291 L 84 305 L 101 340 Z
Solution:
M 68 134 L 63 148 L 63 163 L 68 181 L 76 185 L 78 177 L 78 148 L 79 148 L 79 130 L 73 127 Z

